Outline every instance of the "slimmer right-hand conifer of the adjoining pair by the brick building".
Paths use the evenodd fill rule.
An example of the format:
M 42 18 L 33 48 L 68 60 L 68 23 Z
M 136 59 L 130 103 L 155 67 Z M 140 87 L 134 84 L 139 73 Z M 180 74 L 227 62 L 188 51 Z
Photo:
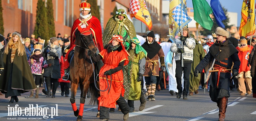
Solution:
M 53 1 L 52 0 L 47 0 L 46 16 L 47 16 L 49 37 L 55 37 L 56 35 L 55 35 L 55 25 L 54 25 L 54 18 L 53 18 Z

